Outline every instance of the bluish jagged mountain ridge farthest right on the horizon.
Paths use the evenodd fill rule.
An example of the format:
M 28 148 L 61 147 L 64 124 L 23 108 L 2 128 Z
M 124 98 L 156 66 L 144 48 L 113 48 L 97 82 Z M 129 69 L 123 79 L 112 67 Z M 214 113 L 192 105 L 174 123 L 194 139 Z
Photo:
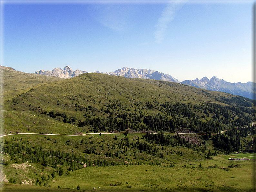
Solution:
M 185 85 L 190 85 L 193 87 L 210 90 L 210 91 L 227 92 L 233 95 L 241 95 L 243 97 L 253 99 L 253 91 L 252 91 L 253 82 L 231 83 L 223 79 L 218 79 L 217 77 L 213 76 L 211 79 L 208 79 L 207 77 L 203 77 L 201 80 L 196 78 L 192 81 L 185 80 L 181 83 Z

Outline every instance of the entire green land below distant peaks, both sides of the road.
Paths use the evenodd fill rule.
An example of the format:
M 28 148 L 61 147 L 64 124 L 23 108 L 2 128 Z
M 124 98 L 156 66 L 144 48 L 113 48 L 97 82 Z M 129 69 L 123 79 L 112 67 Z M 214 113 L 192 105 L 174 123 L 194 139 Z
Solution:
M 20 81 L 8 70 L 5 82 Z M 98 73 L 51 78 L 27 77 L 27 85 L 5 91 L 3 134 L 63 135 L 5 136 L 0 145 L 2 178 L 9 181 L 5 191 L 251 189 L 246 181 L 253 160 L 235 166 L 228 158 L 253 156 L 246 154 L 256 133 L 252 100 Z

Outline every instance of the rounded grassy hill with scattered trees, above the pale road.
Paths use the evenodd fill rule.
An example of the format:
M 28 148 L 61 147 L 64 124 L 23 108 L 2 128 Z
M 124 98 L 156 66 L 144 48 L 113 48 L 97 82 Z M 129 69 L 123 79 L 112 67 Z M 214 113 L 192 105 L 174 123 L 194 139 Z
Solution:
M 241 96 L 180 83 L 86 73 L 7 100 L 5 110 L 12 112 L 5 113 L 5 129 L 46 133 L 43 127 L 50 126 L 53 133 L 70 133 L 73 126 L 74 133 L 127 129 L 216 133 L 248 126 L 254 120 L 251 106 L 251 100 Z

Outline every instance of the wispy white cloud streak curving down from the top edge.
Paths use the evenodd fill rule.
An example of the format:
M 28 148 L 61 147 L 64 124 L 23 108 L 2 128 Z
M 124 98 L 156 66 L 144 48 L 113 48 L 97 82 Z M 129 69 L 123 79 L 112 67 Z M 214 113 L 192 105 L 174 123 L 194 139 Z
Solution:
M 157 28 L 154 32 L 156 43 L 162 43 L 165 36 L 166 28 L 168 24 L 174 19 L 176 12 L 184 5 L 187 1 L 172 1 L 162 11 L 161 17 L 158 19 L 155 27 Z

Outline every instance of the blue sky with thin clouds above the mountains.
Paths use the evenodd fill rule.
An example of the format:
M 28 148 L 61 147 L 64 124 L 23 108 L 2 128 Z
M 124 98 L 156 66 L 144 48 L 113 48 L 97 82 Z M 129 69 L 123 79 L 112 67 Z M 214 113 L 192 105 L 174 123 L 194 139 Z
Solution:
M 1 0 L 1 65 L 252 81 L 253 1 Z

